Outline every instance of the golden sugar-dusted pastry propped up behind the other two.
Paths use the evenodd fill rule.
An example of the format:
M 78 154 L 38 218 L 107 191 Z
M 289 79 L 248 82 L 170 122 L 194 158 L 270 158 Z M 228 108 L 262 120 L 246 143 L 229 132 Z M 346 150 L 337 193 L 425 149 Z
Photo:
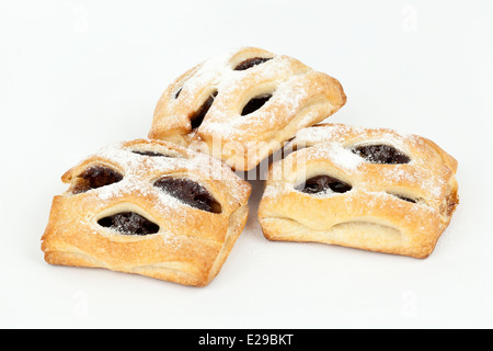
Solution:
M 256 98 L 264 105 L 250 109 Z M 243 47 L 205 60 L 171 83 L 157 103 L 149 137 L 250 170 L 345 102 L 336 79 L 295 58 Z

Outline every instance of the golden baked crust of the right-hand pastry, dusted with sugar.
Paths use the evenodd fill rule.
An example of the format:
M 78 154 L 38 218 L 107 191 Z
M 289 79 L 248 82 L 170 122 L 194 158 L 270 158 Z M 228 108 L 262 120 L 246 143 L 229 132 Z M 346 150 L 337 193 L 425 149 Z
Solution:
M 395 163 L 376 163 L 355 151 L 371 145 L 397 150 Z M 271 165 L 259 207 L 271 240 L 426 258 L 459 203 L 457 161 L 416 135 L 320 124 L 300 131 L 290 147 L 291 154 Z M 334 191 L 303 192 L 306 180 L 322 174 L 340 180 Z

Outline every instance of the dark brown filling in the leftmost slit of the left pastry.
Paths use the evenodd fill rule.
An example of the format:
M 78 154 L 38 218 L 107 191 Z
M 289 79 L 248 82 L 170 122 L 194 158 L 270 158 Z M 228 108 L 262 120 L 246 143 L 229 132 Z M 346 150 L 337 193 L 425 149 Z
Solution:
M 123 176 L 110 167 L 92 166 L 76 178 L 72 185 L 72 193 L 84 193 L 91 189 L 117 183 L 122 179 Z

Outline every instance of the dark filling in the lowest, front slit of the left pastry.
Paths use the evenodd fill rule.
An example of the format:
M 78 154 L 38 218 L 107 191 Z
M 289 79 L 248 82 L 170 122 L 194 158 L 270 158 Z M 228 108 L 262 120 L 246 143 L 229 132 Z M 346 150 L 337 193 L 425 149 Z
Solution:
M 122 212 L 98 220 L 98 224 L 125 235 L 149 235 L 159 231 L 159 226 L 135 212 Z

